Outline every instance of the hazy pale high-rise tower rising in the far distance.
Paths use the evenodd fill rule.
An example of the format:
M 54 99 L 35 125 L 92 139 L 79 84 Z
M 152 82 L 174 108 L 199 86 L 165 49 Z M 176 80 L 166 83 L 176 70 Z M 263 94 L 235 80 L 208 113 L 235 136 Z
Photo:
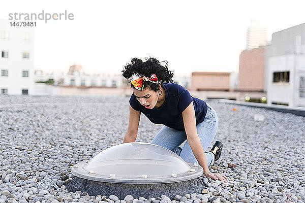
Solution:
M 262 20 L 251 20 L 250 26 L 247 28 L 247 47 L 246 49 L 254 49 L 265 46 L 267 41 L 267 27 Z

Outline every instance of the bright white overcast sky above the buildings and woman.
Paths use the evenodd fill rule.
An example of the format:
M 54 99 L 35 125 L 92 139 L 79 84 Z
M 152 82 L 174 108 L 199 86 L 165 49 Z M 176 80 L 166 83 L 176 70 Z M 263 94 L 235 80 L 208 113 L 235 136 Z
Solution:
M 305 22 L 303 0 L 221 1 L 6 1 L 9 13 L 73 13 L 73 20 L 38 20 L 34 69 L 120 74 L 131 59 L 168 61 L 175 75 L 238 72 L 251 20 L 262 20 L 267 40 Z

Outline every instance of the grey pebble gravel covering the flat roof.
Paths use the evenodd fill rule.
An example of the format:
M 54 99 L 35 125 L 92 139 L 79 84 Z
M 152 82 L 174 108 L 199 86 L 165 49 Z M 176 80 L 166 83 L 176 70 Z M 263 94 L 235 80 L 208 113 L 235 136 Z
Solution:
M 174 199 L 69 192 L 72 165 L 123 142 L 128 100 L 0 95 L 0 203 L 305 202 L 305 117 L 217 100 L 207 102 L 219 117 L 215 141 L 224 147 L 210 170 L 224 173 L 229 184 L 203 176 L 201 194 Z M 161 127 L 142 115 L 137 141 L 150 142 Z

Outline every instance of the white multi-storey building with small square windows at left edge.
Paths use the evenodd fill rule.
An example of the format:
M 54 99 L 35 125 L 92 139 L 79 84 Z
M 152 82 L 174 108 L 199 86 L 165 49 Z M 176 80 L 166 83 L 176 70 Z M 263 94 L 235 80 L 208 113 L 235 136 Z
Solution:
M 34 27 L 0 19 L 0 94 L 32 94 Z

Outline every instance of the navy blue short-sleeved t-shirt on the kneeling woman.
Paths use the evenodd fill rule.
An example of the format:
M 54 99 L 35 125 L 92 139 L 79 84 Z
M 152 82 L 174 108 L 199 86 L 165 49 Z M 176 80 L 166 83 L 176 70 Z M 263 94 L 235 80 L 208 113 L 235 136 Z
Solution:
M 140 104 L 134 94 L 129 99 L 130 106 L 142 112 L 151 122 L 164 124 L 176 130 L 185 130 L 182 112 L 193 101 L 196 124 L 201 123 L 206 115 L 207 106 L 199 98 L 192 97 L 187 89 L 175 83 L 164 83 L 166 95 L 164 103 L 159 108 L 146 109 Z

